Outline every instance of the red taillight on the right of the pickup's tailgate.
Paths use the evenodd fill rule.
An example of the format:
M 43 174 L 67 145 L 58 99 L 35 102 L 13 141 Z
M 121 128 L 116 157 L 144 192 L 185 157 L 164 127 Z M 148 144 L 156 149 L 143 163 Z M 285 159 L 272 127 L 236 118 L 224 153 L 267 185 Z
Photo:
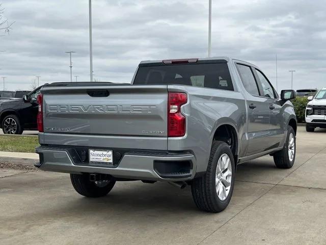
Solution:
M 181 106 L 187 103 L 187 94 L 169 92 L 168 97 L 168 137 L 182 137 L 185 135 L 185 116 Z

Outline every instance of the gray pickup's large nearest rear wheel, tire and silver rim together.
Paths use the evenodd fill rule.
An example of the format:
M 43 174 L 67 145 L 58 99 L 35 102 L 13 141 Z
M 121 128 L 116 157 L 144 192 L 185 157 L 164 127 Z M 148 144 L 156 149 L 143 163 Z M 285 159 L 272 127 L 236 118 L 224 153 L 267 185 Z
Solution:
M 232 197 L 235 181 L 235 164 L 230 146 L 213 141 L 206 174 L 192 183 L 196 206 L 207 212 L 221 212 Z

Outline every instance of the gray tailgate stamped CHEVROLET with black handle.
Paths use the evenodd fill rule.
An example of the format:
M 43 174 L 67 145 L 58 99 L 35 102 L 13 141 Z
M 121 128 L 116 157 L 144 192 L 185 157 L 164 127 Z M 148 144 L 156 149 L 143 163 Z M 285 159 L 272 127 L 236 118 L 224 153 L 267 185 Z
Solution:
M 45 144 L 167 150 L 166 85 L 45 86 L 42 94 Z

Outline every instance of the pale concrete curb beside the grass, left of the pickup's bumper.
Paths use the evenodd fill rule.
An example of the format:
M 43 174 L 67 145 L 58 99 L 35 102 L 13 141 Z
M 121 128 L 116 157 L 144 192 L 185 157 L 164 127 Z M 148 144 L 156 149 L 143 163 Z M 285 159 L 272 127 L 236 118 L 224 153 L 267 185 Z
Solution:
M 34 166 L 39 162 L 39 156 L 36 153 L 0 152 L 0 162 Z

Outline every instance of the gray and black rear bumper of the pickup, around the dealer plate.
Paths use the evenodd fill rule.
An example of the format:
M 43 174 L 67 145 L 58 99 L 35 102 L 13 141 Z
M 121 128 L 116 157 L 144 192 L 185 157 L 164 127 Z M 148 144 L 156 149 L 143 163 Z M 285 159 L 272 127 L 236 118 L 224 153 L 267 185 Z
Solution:
M 191 153 L 126 152 L 114 166 L 93 166 L 82 163 L 73 148 L 36 148 L 40 163 L 35 166 L 45 171 L 61 173 L 107 174 L 116 178 L 153 181 L 186 181 L 196 174 L 196 158 Z M 169 167 L 172 168 L 169 168 Z M 186 166 L 183 171 L 172 171 Z M 169 170 L 172 169 L 172 170 Z

